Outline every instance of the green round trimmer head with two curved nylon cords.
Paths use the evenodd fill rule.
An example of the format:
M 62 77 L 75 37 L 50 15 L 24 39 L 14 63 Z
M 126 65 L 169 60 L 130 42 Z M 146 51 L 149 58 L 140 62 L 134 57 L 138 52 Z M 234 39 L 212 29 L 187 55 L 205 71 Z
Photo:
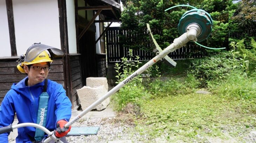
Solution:
M 197 9 L 196 7 L 189 6 L 189 5 L 177 5 L 177 6 L 170 7 L 164 11 L 166 12 L 169 9 L 180 7 L 180 6 L 193 8 L 187 11 L 186 13 L 184 13 L 180 19 L 180 22 L 178 23 L 178 32 L 180 33 L 180 35 L 182 35 L 183 33 L 186 33 L 188 29 L 192 26 L 199 26 L 201 28 L 201 31 L 198 32 L 197 34 L 197 37 L 196 37 L 197 42 L 201 42 L 204 39 L 208 38 L 210 36 L 211 30 L 213 29 L 213 19 L 211 18 L 210 14 L 202 9 Z M 191 42 L 194 42 L 194 41 L 191 41 Z M 206 47 L 197 42 L 195 42 L 197 45 L 200 45 L 204 48 L 208 48 L 212 50 L 225 49 L 225 47 L 223 48 Z

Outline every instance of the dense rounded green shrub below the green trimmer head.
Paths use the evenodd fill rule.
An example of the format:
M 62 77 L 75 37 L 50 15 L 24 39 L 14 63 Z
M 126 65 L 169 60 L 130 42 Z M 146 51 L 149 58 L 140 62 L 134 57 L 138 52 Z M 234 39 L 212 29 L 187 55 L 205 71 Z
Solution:
M 225 78 L 226 73 L 231 71 L 230 52 L 220 52 L 211 57 L 194 59 L 191 64 L 189 73 L 193 74 L 202 86 L 207 85 L 208 81 L 218 81 Z

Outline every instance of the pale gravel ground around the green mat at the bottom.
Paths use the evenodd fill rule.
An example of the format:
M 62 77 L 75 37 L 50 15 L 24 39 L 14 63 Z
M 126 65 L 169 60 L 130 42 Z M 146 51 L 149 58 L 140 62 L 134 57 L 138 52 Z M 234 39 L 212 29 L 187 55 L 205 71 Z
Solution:
M 121 121 L 117 121 L 116 118 L 100 118 L 100 119 L 81 119 L 81 122 L 76 122 L 73 127 L 82 126 L 99 126 L 100 129 L 97 135 L 89 136 L 69 136 L 67 140 L 69 143 L 107 143 L 109 141 L 126 141 L 133 143 L 141 142 L 155 142 L 155 140 L 148 140 L 146 136 L 139 134 L 131 134 L 130 130 L 134 128 L 133 125 L 128 125 Z

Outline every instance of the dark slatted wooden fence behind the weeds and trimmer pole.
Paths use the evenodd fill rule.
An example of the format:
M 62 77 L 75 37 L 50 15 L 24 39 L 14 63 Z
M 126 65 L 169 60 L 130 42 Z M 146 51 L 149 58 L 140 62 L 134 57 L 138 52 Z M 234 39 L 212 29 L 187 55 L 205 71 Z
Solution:
M 129 39 L 136 39 L 135 35 L 130 35 L 129 30 L 120 30 L 119 27 L 110 27 L 106 31 L 106 46 L 107 46 L 107 63 L 108 65 L 114 64 L 115 62 L 121 62 L 123 57 L 129 58 L 129 48 L 125 45 L 121 44 L 120 36 L 126 36 Z M 144 35 L 148 35 L 148 31 L 142 33 Z M 132 42 L 129 41 L 129 42 Z M 146 41 L 148 43 L 146 46 L 151 47 L 150 41 Z M 168 56 L 173 60 L 178 59 L 194 59 L 203 57 L 203 53 L 193 54 L 196 50 L 200 50 L 202 47 L 197 45 L 188 45 L 187 47 L 182 47 L 180 49 L 175 50 L 168 54 Z M 156 53 L 153 51 L 146 50 L 133 50 L 133 58 L 132 61 L 136 60 L 136 56 L 139 56 L 139 61 L 147 61 L 151 60 L 155 57 Z

